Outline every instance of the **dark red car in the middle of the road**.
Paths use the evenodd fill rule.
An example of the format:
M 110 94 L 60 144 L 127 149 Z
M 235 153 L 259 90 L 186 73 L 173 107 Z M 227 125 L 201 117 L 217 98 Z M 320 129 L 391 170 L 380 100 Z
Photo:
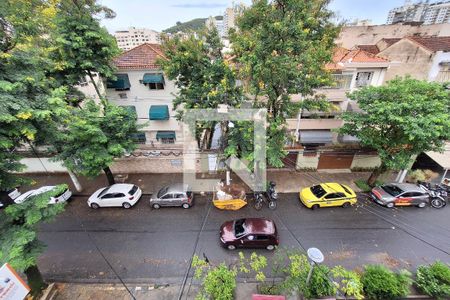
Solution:
M 278 246 L 277 227 L 272 220 L 262 218 L 228 221 L 220 227 L 220 242 L 230 250 L 238 247 L 273 250 Z

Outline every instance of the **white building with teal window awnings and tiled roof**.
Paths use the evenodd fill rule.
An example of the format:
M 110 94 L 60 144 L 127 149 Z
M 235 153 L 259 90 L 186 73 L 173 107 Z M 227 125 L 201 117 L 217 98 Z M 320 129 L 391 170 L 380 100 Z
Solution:
M 176 87 L 161 70 L 158 59 L 164 59 L 160 46 L 143 44 L 124 52 L 114 60 L 116 80 L 106 84 L 111 103 L 137 115 L 143 125 L 135 137 L 143 149 L 181 149 L 183 134 L 176 120 L 172 100 Z

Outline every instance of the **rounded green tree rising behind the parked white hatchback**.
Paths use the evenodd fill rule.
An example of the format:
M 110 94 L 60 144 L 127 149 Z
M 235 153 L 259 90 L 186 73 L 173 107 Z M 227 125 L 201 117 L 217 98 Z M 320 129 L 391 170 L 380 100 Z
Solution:
M 83 109 L 73 108 L 71 113 L 54 144 L 54 159 L 89 178 L 103 171 L 108 183 L 114 184 L 111 164 L 136 147 L 133 136 L 139 126 L 135 116 L 122 107 L 110 103 L 100 106 L 93 100 L 88 100 Z

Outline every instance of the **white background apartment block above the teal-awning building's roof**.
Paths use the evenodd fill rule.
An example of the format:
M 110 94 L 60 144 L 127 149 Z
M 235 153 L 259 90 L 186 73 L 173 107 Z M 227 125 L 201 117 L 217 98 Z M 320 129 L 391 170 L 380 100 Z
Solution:
M 114 33 L 117 45 L 122 50 L 130 50 L 142 44 L 160 44 L 160 33 L 147 28 L 130 27 Z

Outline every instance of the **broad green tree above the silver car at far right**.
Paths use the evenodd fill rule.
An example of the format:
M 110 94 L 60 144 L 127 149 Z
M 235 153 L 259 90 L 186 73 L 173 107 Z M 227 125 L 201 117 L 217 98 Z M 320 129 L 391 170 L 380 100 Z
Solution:
M 349 98 L 363 112 L 344 113 L 339 132 L 357 137 L 381 158 L 369 185 L 387 170 L 407 168 L 415 155 L 442 151 L 450 139 L 450 91 L 440 83 L 396 78 L 384 86 L 362 88 Z

